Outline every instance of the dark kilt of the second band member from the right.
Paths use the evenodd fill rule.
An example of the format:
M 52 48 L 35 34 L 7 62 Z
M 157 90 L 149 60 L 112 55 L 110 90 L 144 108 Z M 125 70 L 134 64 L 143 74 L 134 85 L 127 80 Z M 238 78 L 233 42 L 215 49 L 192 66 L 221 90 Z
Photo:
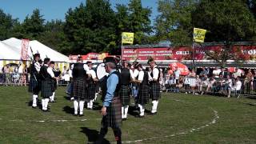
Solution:
M 141 105 L 147 104 L 150 98 L 150 87 L 139 86 L 138 88 L 138 103 Z

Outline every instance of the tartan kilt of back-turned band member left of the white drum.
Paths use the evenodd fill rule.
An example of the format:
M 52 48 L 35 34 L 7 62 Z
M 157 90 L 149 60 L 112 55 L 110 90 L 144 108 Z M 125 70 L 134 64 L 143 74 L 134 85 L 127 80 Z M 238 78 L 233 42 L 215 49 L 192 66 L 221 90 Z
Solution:
M 85 78 L 75 78 L 74 79 L 74 88 L 73 88 L 73 97 L 77 100 L 86 100 L 88 101 L 88 94 L 86 92 L 86 79 Z

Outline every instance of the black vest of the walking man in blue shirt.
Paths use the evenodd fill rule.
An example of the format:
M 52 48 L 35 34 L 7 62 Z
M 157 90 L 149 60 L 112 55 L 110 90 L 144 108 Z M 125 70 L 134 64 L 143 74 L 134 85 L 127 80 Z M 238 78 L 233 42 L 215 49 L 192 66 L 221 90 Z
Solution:
M 112 74 L 117 74 L 118 75 L 118 85 L 116 87 L 116 89 L 114 90 L 114 97 L 118 97 L 119 96 L 119 90 L 120 90 L 120 73 L 118 71 L 114 71 Z M 111 75 L 111 74 L 110 74 Z M 105 97 L 106 97 L 106 90 L 107 90 L 107 79 L 110 78 L 110 75 L 108 77 L 104 77 L 104 79 L 102 80 L 102 101 L 104 101 Z

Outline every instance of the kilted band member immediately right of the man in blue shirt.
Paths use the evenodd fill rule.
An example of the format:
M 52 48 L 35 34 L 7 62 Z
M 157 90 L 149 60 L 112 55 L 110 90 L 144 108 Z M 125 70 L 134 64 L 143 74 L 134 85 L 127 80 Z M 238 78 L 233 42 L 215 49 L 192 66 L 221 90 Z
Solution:
M 120 98 L 122 102 L 122 120 L 127 119 L 127 113 L 130 105 L 130 82 L 131 74 L 130 69 L 128 68 L 128 62 L 126 60 L 122 61 L 122 69 L 120 73 Z

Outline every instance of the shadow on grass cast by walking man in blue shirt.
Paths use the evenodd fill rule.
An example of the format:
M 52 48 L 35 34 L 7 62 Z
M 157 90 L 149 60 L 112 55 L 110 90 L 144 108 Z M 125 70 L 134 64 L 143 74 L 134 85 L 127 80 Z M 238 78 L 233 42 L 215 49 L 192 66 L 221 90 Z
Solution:
M 87 127 L 81 127 L 83 134 L 86 134 L 87 138 L 88 138 L 88 142 L 87 143 L 95 143 L 98 139 L 98 130 L 91 130 Z M 106 144 L 110 144 L 110 142 L 108 140 L 106 140 L 105 138 L 103 139 L 102 143 L 106 143 Z

